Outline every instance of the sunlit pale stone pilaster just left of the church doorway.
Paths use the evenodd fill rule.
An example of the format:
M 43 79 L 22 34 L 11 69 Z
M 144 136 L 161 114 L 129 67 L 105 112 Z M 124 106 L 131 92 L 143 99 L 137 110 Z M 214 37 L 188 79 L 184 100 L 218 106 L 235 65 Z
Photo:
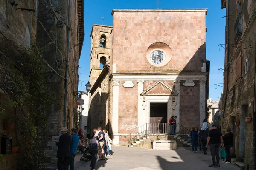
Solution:
M 143 111 L 143 96 L 140 94 L 143 92 L 144 81 L 137 81 L 138 85 L 138 127 L 145 123 L 145 115 Z

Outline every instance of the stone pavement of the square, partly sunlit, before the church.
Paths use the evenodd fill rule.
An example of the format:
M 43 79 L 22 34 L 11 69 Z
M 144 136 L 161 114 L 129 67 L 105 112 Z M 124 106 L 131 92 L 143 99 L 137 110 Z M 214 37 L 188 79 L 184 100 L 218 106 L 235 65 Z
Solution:
M 191 148 L 152 150 L 148 148 L 112 147 L 112 155 L 96 162 L 96 170 L 212 170 L 212 157 L 208 152 L 192 153 Z M 90 170 L 90 161 L 80 161 L 76 154 L 75 170 Z M 239 170 L 234 164 L 220 163 L 218 170 Z

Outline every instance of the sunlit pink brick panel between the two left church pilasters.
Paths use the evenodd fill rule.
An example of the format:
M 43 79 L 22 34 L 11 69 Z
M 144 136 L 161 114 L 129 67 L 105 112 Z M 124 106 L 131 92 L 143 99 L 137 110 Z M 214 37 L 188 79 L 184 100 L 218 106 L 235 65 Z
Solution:
M 138 126 L 138 85 L 133 81 L 133 88 L 124 88 L 124 81 L 119 84 L 119 133 L 128 133 L 122 126 Z

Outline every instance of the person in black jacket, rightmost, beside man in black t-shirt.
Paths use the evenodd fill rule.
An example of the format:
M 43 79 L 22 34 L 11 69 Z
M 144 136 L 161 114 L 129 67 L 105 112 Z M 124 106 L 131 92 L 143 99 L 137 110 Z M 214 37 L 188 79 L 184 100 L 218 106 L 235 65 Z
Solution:
M 234 135 L 231 132 L 231 128 L 227 127 L 226 134 L 222 137 L 224 141 L 225 150 L 227 153 L 227 162 L 225 164 L 231 164 L 231 157 L 230 157 L 230 148 L 233 147 L 233 138 Z

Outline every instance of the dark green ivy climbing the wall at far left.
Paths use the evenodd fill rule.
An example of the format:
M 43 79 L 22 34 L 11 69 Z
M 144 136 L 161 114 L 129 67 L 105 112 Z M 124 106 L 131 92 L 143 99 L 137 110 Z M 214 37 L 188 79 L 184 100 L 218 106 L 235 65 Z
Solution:
M 44 169 L 47 109 L 53 101 L 45 61 L 36 46 L 28 48 L 0 38 L 0 95 L 4 97 L 0 114 L 15 123 L 14 142 L 20 146 L 22 160 L 17 167 Z M 12 107 L 12 113 L 6 111 L 5 103 Z

